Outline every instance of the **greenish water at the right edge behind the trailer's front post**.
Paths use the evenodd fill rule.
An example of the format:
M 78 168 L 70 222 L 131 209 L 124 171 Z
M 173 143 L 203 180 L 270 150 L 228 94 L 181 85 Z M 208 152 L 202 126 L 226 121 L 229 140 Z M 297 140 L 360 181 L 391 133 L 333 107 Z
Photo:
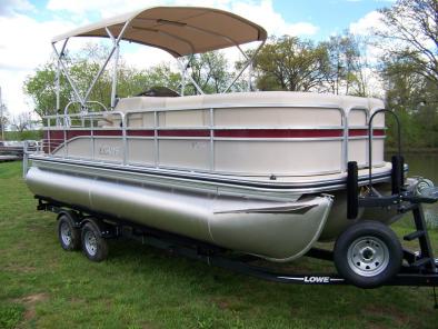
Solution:
M 438 153 L 406 153 L 405 162 L 409 164 L 408 177 L 420 176 L 438 186 Z M 425 205 L 424 209 L 428 227 L 438 229 L 438 202 Z

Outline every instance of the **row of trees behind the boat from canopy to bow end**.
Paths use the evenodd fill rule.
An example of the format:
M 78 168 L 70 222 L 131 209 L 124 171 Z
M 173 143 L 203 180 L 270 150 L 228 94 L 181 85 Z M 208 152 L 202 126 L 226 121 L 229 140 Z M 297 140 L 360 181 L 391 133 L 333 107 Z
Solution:
M 367 97 L 364 47 L 348 32 L 317 44 L 287 36 L 271 38 L 256 58 L 257 87 Z

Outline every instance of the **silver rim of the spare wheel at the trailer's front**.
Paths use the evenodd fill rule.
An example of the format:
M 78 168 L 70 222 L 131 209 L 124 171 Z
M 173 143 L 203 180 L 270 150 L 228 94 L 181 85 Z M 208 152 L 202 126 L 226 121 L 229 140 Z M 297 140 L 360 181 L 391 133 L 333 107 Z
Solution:
M 376 237 L 356 239 L 348 248 L 347 257 L 351 270 L 361 277 L 375 277 L 389 263 L 388 247 Z

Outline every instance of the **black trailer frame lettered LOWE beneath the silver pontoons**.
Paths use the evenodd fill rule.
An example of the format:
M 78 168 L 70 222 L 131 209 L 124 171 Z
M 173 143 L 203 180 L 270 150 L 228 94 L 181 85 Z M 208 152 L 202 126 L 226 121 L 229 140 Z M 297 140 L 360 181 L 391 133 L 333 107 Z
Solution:
M 100 235 L 104 239 L 131 238 L 143 245 L 167 250 L 172 255 L 200 260 L 210 266 L 230 269 L 269 281 L 295 285 L 350 285 L 348 280 L 338 273 L 286 273 L 272 271 L 265 267 L 251 265 L 250 262 L 260 260 L 260 258 L 255 256 L 242 255 L 232 257 L 229 255 L 230 250 L 203 241 L 132 223 L 129 220 L 115 218 L 108 213 L 97 213 L 90 209 L 60 203 L 48 198 L 39 196 L 36 198 L 39 200 L 38 210 L 68 215 L 74 218 L 77 228 L 91 221 L 100 229 Z M 334 252 L 327 249 L 312 248 L 305 256 L 327 261 L 334 260 Z M 399 273 L 387 281 L 385 286 L 438 286 L 438 272 L 431 272 L 424 259 L 421 252 L 404 250 L 405 265 Z M 434 267 L 438 267 L 438 259 L 434 259 Z

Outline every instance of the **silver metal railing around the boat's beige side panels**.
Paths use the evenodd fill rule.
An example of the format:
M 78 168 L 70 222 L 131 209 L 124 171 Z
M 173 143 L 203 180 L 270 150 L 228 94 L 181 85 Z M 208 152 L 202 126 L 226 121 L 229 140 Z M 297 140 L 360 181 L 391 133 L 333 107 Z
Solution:
M 291 104 L 239 104 L 235 108 L 269 108 L 269 107 L 287 107 L 287 108 L 321 108 L 321 106 L 291 106 Z M 226 108 L 232 108 L 232 106 L 226 106 Z M 347 169 L 347 163 L 349 161 L 348 154 L 348 140 L 349 139 L 368 139 L 367 136 L 364 137 L 350 137 L 349 130 L 350 129 L 367 129 L 366 123 L 369 120 L 369 110 L 366 108 L 350 108 L 350 109 L 342 109 L 340 107 L 328 107 L 327 104 L 323 108 L 329 108 L 332 110 L 337 110 L 339 112 L 339 124 L 331 124 L 331 126 L 281 126 L 281 129 L 300 129 L 300 130 L 311 130 L 311 129 L 319 129 L 319 130 L 339 130 L 342 133 L 338 137 L 315 137 L 315 138 L 306 138 L 307 141 L 313 140 L 338 140 L 341 143 L 341 151 L 340 151 L 340 167 L 336 172 L 345 172 Z M 266 129 L 266 130 L 275 130 L 279 129 L 279 127 L 256 127 L 251 124 L 242 124 L 242 126 L 232 126 L 232 127 L 223 127 L 215 122 L 215 111 L 218 109 L 223 109 L 223 106 L 220 108 L 213 107 L 187 107 L 187 108 L 175 108 L 175 109 L 149 109 L 149 110 L 129 110 L 129 111 L 103 111 L 103 112 L 81 112 L 81 113 L 70 113 L 70 114 L 56 114 L 56 116 L 48 116 L 44 117 L 44 121 L 47 123 L 46 131 L 44 131 L 44 141 L 42 143 L 42 150 L 46 153 L 49 153 L 54 157 L 63 157 L 70 158 L 74 157 L 74 154 L 69 152 L 69 142 L 73 139 L 78 138 L 89 138 L 90 139 L 90 152 L 91 152 L 91 160 L 94 159 L 96 154 L 96 139 L 121 139 L 121 147 L 117 149 L 117 153 L 121 156 L 118 158 L 117 162 L 121 164 L 132 164 L 128 161 L 128 141 L 133 140 L 136 138 L 153 140 L 155 144 L 155 154 L 153 154 L 153 164 L 155 167 L 166 167 L 160 163 L 159 159 L 159 141 L 160 140 L 205 140 L 209 141 L 209 170 L 213 171 L 215 168 L 215 147 L 217 141 L 221 141 L 223 138 L 218 136 L 216 132 L 220 130 L 245 130 L 249 131 L 252 129 Z M 349 126 L 348 124 L 348 114 L 352 110 L 364 111 L 365 120 L 364 126 Z M 376 111 L 375 109 L 374 111 Z M 207 118 L 203 120 L 202 124 L 163 124 L 160 122 L 160 116 L 162 112 L 173 112 L 173 111 L 205 111 L 205 117 Z M 371 113 L 374 112 L 371 111 Z M 148 124 L 145 124 L 142 121 L 143 116 L 149 116 L 153 118 L 149 120 Z M 140 117 L 140 120 L 139 120 Z M 150 118 L 149 118 L 150 119 Z M 139 123 L 140 121 L 140 123 Z M 137 123 L 135 123 L 137 122 Z M 142 130 L 143 134 L 139 134 L 136 131 Z M 172 133 L 167 133 L 166 131 L 169 130 L 187 130 L 191 131 L 191 136 L 172 136 Z M 141 131 L 139 131 L 141 132 Z M 232 133 L 231 133 L 232 134 Z M 235 134 L 236 136 L 236 134 Z M 376 137 L 376 138 L 385 138 L 384 137 Z M 230 140 L 230 138 L 228 138 Z M 268 139 L 263 138 L 245 138 L 245 137 L 236 137 L 233 140 L 258 140 L 263 141 Z M 289 139 L 288 139 L 289 140 Z M 291 141 L 301 141 L 305 139 L 293 138 L 290 139 Z M 61 151 L 59 151 L 62 149 Z M 366 148 L 365 151 L 368 149 Z M 102 151 L 102 150 L 98 150 Z M 104 152 L 116 152 L 116 150 L 103 150 Z M 102 151 L 102 152 L 103 152 Z M 56 153 L 56 154 L 54 154 Z M 368 158 L 368 154 L 367 154 Z M 116 161 L 116 160 L 115 160 Z M 113 162 L 113 161 L 111 161 Z M 129 163 L 128 163 L 129 162 Z M 364 167 L 369 167 L 367 166 Z

